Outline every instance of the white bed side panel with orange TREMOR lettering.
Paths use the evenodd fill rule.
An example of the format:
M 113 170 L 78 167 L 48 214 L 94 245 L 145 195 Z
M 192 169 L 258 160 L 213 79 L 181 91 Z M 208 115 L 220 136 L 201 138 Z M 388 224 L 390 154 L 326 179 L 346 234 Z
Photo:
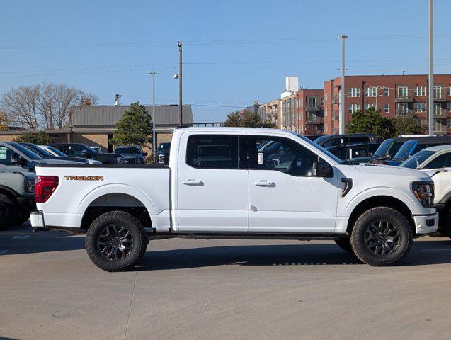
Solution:
M 37 176 L 58 176 L 58 186 L 38 210 L 45 225 L 81 227 L 92 207 L 146 208 L 156 229 L 170 227 L 170 176 L 167 166 L 147 164 L 45 164 Z

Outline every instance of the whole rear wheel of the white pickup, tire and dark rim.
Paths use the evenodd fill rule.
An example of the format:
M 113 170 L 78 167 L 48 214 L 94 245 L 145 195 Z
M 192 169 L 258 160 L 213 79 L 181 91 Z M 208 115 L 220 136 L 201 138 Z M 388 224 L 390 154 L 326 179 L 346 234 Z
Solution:
M 137 218 L 127 212 L 105 212 L 88 228 L 85 239 L 88 256 L 104 271 L 128 271 L 142 259 L 147 234 Z

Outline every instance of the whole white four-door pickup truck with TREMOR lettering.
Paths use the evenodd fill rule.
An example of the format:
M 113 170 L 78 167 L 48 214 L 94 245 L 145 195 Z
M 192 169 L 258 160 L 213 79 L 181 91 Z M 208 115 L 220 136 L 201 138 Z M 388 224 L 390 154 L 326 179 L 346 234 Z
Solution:
M 42 164 L 34 228 L 86 232 L 99 268 L 124 271 L 149 239 L 333 239 L 372 266 L 435 232 L 428 174 L 341 162 L 302 135 L 180 128 L 169 166 Z

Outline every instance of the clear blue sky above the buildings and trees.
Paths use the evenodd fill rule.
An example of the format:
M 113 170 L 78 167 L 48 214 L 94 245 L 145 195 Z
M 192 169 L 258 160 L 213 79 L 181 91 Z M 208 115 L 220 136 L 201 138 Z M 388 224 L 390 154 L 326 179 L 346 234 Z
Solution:
M 183 98 L 195 121 L 277 98 L 285 76 L 322 88 L 338 77 L 346 42 L 348 74 L 426 73 L 427 0 L 111 1 L 4 0 L 0 95 L 54 81 L 111 104 L 177 103 L 183 42 Z M 435 73 L 451 73 L 451 1 L 435 0 Z

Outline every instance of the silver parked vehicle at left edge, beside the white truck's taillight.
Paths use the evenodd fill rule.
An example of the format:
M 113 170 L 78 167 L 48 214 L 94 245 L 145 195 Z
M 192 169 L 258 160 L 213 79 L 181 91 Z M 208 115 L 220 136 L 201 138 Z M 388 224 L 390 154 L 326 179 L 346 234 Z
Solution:
M 0 230 L 21 225 L 35 209 L 35 174 L 0 169 Z

